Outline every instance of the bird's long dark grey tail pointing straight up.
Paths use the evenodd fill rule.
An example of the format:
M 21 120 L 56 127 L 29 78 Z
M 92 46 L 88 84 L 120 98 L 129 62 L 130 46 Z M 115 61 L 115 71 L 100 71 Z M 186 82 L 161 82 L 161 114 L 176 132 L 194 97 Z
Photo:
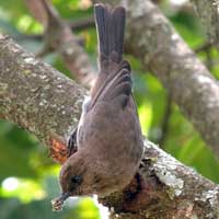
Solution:
M 100 66 L 104 60 L 119 64 L 123 60 L 125 9 L 111 9 L 105 4 L 95 5 L 95 23 L 99 36 Z

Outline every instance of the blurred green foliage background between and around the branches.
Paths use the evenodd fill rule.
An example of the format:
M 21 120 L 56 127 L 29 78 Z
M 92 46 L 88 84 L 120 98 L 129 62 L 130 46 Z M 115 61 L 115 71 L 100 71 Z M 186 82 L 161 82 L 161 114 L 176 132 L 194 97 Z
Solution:
M 53 0 L 64 20 L 89 19 L 93 8 L 89 0 Z M 186 0 L 154 0 L 180 35 L 211 73 L 219 78 L 219 54 L 206 41 L 193 7 Z M 30 14 L 24 0 L 0 0 L 0 32 L 10 35 L 31 53 L 44 46 L 43 26 Z M 74 32 L 96 68 L 96 34 L 93 25 Z M 42 57 L 62 73 L 71 77 L 56 53 Z M 201 140 L 178 107 L 172 103 L 157 78 L 145 72 L 140 62 L 126 55 L 134 71 L 134 91 L 143 135 L 177 160 L 204 176 L 219 183 L 219 162 Z M 0 120 L 0 219 L 107 218 L 91 198 L 70 199 L 61 212 L 53 212 L 50 199 L 59 194 L 59 165 L 48 158 L 48 151 L 34 136 L 14 124 Z

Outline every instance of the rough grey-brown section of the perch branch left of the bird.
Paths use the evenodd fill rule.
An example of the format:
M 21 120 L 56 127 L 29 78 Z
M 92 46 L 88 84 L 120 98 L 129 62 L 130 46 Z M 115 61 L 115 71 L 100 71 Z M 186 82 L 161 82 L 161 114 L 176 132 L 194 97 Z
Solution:
M 0 118 L 44 143 L 53 135 L 65 142 L 80 116 L 85 90 L 2 35 L 0 69 Z

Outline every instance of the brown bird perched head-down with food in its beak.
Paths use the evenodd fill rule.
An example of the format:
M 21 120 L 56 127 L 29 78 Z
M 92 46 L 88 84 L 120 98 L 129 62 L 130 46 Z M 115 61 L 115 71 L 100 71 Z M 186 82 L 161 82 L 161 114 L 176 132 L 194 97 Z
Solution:
M 61 209 L 69 196 L 106 196 L 123 189 L 136 174 L 142 155 L 142 135 L 131 94 L 130 66 L 123 60 L 125 9 L 95 4 L 100 73 L 83 103 L 77 151 L 60 171 L 62 195 L 55 199 Z

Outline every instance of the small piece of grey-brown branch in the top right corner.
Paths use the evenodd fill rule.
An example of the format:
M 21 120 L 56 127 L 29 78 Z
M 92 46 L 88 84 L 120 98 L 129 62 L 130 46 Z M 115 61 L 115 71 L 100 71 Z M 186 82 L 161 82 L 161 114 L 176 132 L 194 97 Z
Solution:
M 219 45 L 219 1 L 192 0 L 192 2 L 206 28 L 209 41 Z

